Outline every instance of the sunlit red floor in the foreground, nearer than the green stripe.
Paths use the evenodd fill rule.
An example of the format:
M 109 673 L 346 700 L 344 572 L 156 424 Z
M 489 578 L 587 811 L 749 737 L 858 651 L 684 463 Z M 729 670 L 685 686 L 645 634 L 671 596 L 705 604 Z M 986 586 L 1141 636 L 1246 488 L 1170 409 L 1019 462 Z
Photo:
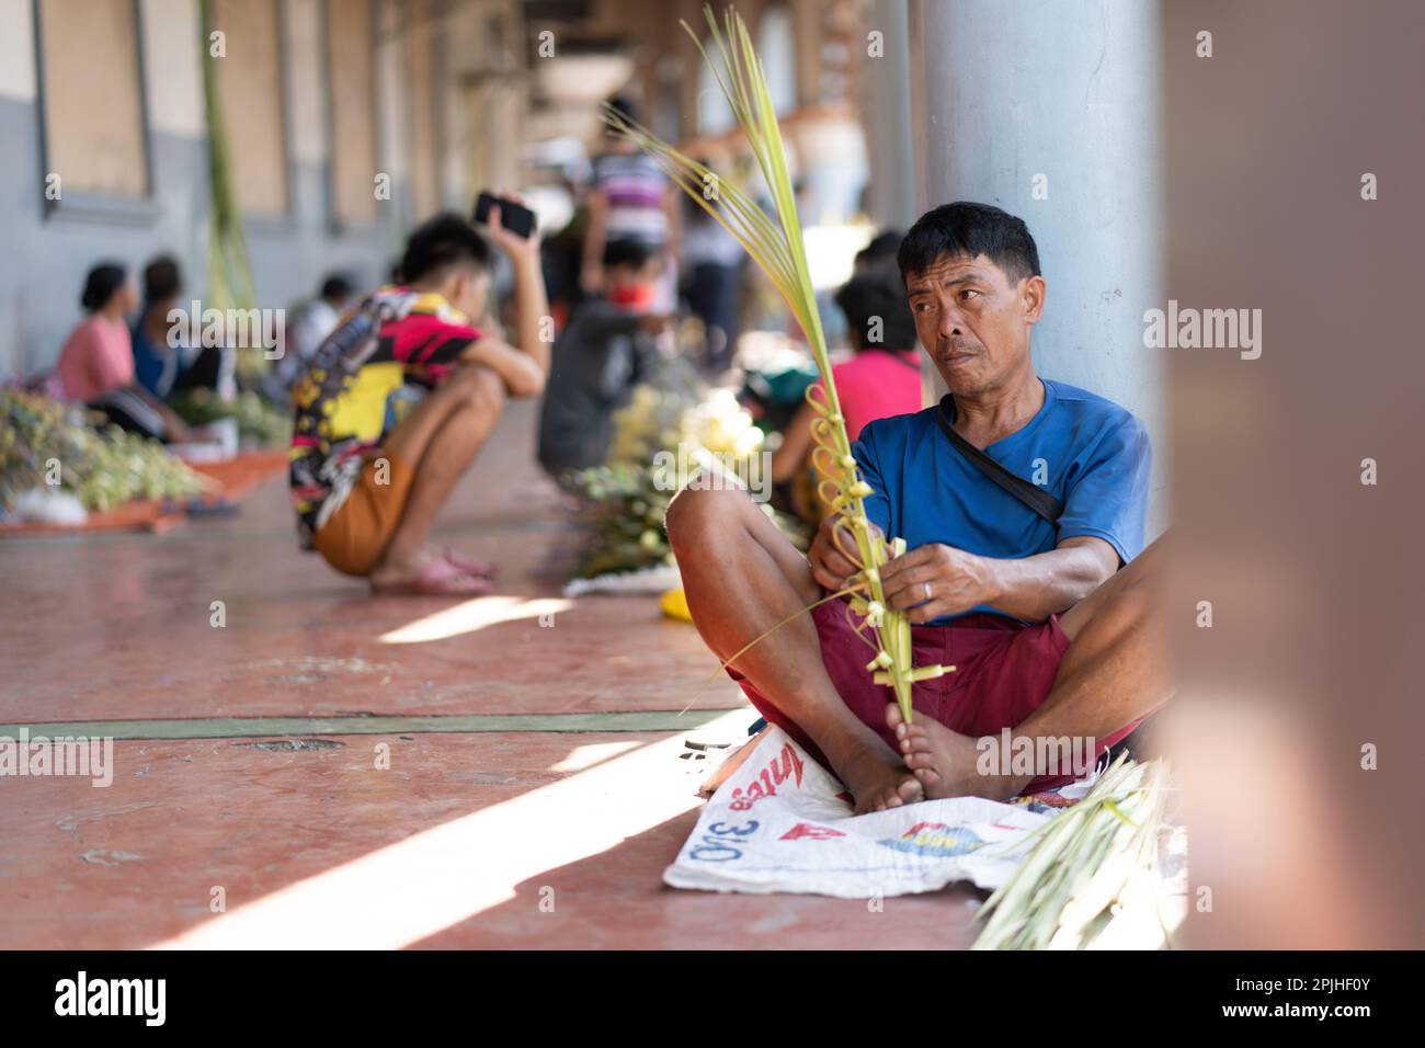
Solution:
M 640 759 L 654 741 L 627 733 L 343 736 L 322 740 L 329 749 L 298 751 L 252 740 L 120 741 L 107 788 L 80 779 L 4 787 L 23 803 L 0 807 L 0 948 L 141 948 L 201 925 L 207 937 L 195 945 L 965 942 L 975 897 L 968 890 L 892 898 L 872 911 L 845 900 L 663 887 L 661 871 L 697 817 L 698 777 L 671 751 Z M 390 747 L 389 770 L 375 766 L 380 744 Z M 593 767 L 604 774 L 580 780 L 584 760 L 600 761 Z M 626 774 L 620 760 L 633 766 Z M 628 796 L 610 796 L 610 781 L 616 790 L 626 783 Z M 536 807 L 534 791 L 559 783 L 570 791 Z M 641 813 L 623 816 L 638 833 L 626 837 L 614 827 L 591 844 L 580 837 L 574 854 L 598 850 L 510 875 L 510 861 L 516 870 L 543 867 L 542 856 L 560 856 L 574 823 L 587 830 L 638 798 L 657 806 L 647 826 Z M 665 818 L 670 810 L 681 811 Z M 489 813 L 509 818 L 469 826 L 432 861 L 423 837 Z M 362 873 L 373 856 L 389 868 Z M 228 925 L 209 910 L 215 887 Z M 282 890 L 305 893 L 294 901 L 299 915 L 264 915 L 262 905 Z M 244 910 L 254 904 L 256 917 Z M 408 908 L 418 911 L 409 927 Z

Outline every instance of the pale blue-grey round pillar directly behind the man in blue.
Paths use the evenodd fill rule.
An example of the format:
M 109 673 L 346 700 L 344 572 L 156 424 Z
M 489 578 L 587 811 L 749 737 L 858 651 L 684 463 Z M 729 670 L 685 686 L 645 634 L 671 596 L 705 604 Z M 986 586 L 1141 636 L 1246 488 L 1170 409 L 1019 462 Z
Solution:
M 1149 525 L 1166 522 L 1159 351 L 1159 10 L 1109 0 L 909 0 L 919 210 L 953 200 L 1029 224 L 1049 285 L 1035 332 L 1045 378 L 1107 396 L 1149 426 Z

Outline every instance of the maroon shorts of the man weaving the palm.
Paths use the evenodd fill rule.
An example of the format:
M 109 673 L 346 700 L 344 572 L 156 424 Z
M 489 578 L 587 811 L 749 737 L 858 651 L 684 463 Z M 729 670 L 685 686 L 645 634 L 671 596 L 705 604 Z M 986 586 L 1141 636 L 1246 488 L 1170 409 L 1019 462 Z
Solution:
M 848 622 L 845 602 L 829 600 L 812 609 L 811 615 L 831 683 L 851 711 L 899 753 L 895 733 L 886 726 L 886 703 L 892 702 L 892 692 L 885 684 L 872 683 L 866 663 L 875 652 L 856 636 Z M 1057 615 L 1032 626 L 1022 626 L 1002 615 L 968 615 L 949 626 L 913 626 L 912 664 L 940 663 L 955 666 L 955 672 L 915 684 L 912 704 L 916 713 L 933 717 L 952 731 L 972 737 L 998 736 L 1002 729 L 1022 724 L 1049 696 L 1067 647 L 1069 637 L 1059 626 Z M 768 721 L 826 764 L 805 731 L 764 699 L 741 673 L 732 669 L 728 673 Z M 1133 727 L 1129 724 L 1099 740 L 1097 751 L 1102 754 Z M 1052 790 L 1070 781 L 1073 776 L 1040 776 L 1025 793 Z

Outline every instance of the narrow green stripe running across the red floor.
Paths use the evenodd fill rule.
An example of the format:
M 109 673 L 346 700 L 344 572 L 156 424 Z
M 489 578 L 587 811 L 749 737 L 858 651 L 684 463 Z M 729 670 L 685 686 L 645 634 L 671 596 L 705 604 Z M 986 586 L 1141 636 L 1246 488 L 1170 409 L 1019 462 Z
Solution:
M 727 710 L 520 713 L 437 717 L 227 717 L 195 720 L 81 720 L 46 724 L 0 724 L 0 736 L 31 739 L 271 739 L 275 736 L 383 736 L 447 731 L 687 731 L 717 720 Z M 748 716 L 755 716 L 751 710 Z

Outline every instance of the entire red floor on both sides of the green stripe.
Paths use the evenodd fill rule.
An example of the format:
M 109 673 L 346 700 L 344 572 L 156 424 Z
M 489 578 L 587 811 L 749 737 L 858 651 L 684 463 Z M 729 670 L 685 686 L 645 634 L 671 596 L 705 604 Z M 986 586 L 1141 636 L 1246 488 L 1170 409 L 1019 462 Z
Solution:
M 499 560 L 507 596 L 551 600 L 576 536 L 529 465 L 532 422 L 516 405 L 439 533 Z M 372 599 L 299 555 L 281 481 L 239 518 L 168 535 L 0 543 L 0 723 L 745 706 L 653 597 L 382 643 L 459 602 Z M 872 913 L 664 888 L 701 767 L 678 759 L 678 734 L 254 741 L 120 741 L 108 788 L 0 779 L 0 947 L 965 941 L 965 890 Z M 389 770 L 375 767 L 383 743 Z

